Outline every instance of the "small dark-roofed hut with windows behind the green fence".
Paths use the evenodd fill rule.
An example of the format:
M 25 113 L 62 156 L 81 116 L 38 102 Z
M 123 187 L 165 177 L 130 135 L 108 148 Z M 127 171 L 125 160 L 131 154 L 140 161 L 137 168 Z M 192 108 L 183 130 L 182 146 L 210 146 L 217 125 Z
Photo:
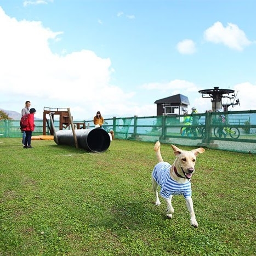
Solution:
M 187 96 L 177 94 L 155 101 L 156 115 L 183 115 L 190 105 Z

